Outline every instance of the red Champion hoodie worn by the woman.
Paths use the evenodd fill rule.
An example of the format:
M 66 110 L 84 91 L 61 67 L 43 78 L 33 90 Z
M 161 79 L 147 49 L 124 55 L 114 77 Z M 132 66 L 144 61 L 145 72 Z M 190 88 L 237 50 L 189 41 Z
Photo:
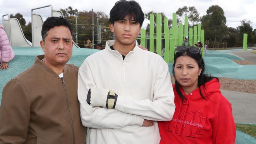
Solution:
M 199 88 L 189 94 L 181 89 L 187 98 L 182 104 L 174 90 L 176 109 L 169 122 L 158 122 L 160 144 L 234 144 L 236 126 L 232 107 L 221 94 L 217 79 L 200 87 L 205 99 L 200 96 Z

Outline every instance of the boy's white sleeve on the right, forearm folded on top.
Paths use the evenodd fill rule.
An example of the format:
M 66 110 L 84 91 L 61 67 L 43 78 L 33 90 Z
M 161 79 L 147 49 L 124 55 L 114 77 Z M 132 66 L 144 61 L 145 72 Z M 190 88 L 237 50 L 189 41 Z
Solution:
M 123 113 L 142 116 L 147 120 L 170 121 L 173 118 L 175 105 L 167 63 L 157 73 L 153 101 L 149 99 L 134 100 L 128 96 L 118 96 L 115 109 Z

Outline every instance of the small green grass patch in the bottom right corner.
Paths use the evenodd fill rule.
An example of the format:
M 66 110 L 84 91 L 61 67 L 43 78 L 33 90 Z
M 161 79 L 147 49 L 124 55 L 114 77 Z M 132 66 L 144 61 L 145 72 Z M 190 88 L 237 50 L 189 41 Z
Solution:
M 256 138 L 256 125 L 253 124 L 236 124 L 236 129 Z

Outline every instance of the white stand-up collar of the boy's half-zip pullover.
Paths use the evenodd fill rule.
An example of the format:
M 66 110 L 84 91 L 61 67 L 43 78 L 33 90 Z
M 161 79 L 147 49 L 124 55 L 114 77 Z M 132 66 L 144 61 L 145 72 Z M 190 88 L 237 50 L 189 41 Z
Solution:
M 136 52 L 139 51 L 138 42 L 136 40 L 135 42 L 136 44 L 134 49 L 125 56 L 125 61 L 129 61 L 130 59 L 132 59 L 132 57 L 136 54 Z M 112 54 L 116 59 L 119 59 L 122 61 L 123 60 L 122 55 L 117 50 L 111 50 L 110 48 L 110 46 L 113 46 L 114 43 L 115 43 L 115 40 L 107 41 L 105 49 L 110 54 Z

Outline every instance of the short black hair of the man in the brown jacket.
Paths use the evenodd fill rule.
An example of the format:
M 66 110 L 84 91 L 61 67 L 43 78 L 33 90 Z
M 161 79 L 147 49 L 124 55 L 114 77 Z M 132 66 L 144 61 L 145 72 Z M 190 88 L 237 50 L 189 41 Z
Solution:
M 69 23 L 69 20 L 67 20 L 67 18 L 63 18 L 63 17 L 48 17 L 45 22 L 43 23 L 42 26 L 42 31 L 41 31 L 41 35 L 42 35 L 42 39 L 43 41 L 45 41 L 45 37 L 48 35 L 48 31 L 51 28 L 54 28 L 55 26 L 66 26 L 67 28 L 69 28 L 70 33 L 72 35 L 72 27 Z

